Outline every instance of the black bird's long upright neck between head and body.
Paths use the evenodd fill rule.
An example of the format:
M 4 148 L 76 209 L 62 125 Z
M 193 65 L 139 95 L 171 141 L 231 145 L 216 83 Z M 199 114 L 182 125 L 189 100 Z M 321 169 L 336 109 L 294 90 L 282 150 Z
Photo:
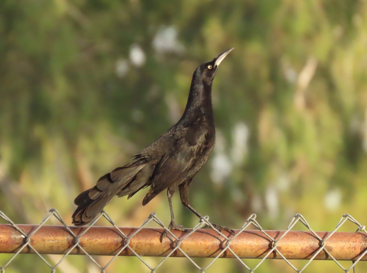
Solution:
M 204 115 L 207 122 L 214 126 L 213 105 L 211 100 L 212 84 L 208 85 L 204 82 L 192 81 L 190 93 L 186 103 L 185 111 L 181 120 L 193 120 Z

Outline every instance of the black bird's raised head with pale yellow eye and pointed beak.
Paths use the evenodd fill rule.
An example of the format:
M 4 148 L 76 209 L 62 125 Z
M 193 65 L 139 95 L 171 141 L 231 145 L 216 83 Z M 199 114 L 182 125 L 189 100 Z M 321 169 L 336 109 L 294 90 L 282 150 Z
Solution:
M 225 57 L 233 50 L 234 47 L 231 47 L 223 52 L 219 53 L 218 56 L 214 57 L 212 60 L 207 61 L 199 67 L 196 68 L 193 78 L 202 79 L 203 82 L 207 85 L 211 85 L 217 72 L 218 65 L 222 63 Z

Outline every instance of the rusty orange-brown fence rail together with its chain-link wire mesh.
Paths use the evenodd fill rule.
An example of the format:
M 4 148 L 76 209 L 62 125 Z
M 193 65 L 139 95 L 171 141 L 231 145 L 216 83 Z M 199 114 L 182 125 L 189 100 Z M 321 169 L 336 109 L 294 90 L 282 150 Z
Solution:
M 46 225 L 51 217 L 62 226 Z M 111 226 L 94 226 L 100 217 L 105 217 Z M 136 256 L 151 272 L 159 272 L 159 267 L 170 257 L 186 257 L 198 272 L 204 272 L 219 258 L 237 259 L 248 272 L 255 272 L 266 259 L 283 259 L 295 272 L 303 272 L 312 260 L 333 260 L 341 272 L 356 272 L 356 264 L 367 260 L 366 227 L 349 214 L 344 214 L 330 232 L 314 231 L 301 214 L 293 217 L 285 231 L 264 230 L 256 220 L 256 214 L 251 214 L 243 227 L 235 230 L 235 235 L 214 228 L 207 216 L 201 218 L 189 233 L 168 230 L 155 213 L 150 214 L 139 228 L 117 227 L 105 211 L 88 227 L 67 226 L 56 209 L 50 209 L 39 225 L 15 224 L 0 211 L 1 219 L 5 223 L 0 223 L 0 253 L 14 253 L 5 264 L 0 264 L 1 273 L 5 273 L 21 253 L 39 256 L 51 272 L 56 272 L 68 255 L 86 255 L 102 273 L 120 255 Z M 347 221 L 356 225 L 355 232 L 339 231 Z M 151 222 L 159 228 L 147 227 Z M 309 231 L 293 231 L 297 223 Z M 206 225 L 209 228 L 201 229 Z M 163 238 L 164 230 L 167 236 Z M 50 254 L 63 256 L 52 265 L 44 257 Z M 93 255 L 112 258 L 106 265 L 100 265 Z M 164 258 L 153 267 L 143 256 Z M 200 267 L 194 257 L 207 257 L 207 265 Z M 244 262 L 248 258 L 259 259 L 259 262 L 251 268 Z M 298 269 L 291 263 L 292 259 L 308 261 Z M 343 267 L 338 260 L 350 260 L 350 267 Z

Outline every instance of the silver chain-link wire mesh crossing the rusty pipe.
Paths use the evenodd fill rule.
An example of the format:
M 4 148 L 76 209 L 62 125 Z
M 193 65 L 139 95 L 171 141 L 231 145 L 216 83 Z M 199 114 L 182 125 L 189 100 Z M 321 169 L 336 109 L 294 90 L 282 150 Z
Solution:
M 50 262 L 48 262 L 48 260 L 44 257 L 47 254 L 45 254 L 44 252 L 41 253 L 41 251 L 37 250 L 33 242 L 33 236 L 37 232 L 39 232 L 41 228 L 46 227 L 46 221 L 49 220 L 51 217 L 54 217 L 55 219 L 57 219 L 62 224 L 63 229 L 66 230 L 69 233 L 69 235 L 72 236 L 72 244 L 67 249 L 65 249 L 65 251 L 63 251 L 62 258 L 60 260 L 52 259 L 54 261 L 54 264 L 51 264 Z M 119 237 L 121 237 L 121 244 L 119 248 L 113 252 L 111 259 L 105 265 L 101 265 L 100 263 L 98 263 L 97 260 L 93 258 L 91 253 L 88 253 L 88 251 L 85 249 L 86 247 L 80 243 L 83 236 L 86 236 L 86 233 L 94 226 L 95 222 L 101 217 L 104 217 L 111 224 L 110 228 L 112 228 L 115 231 L 115 233 L 118 234 Z M 73 254 L 75 252 L 75 249 L 78 249 L 78 254 L 86 255 L 95 264 L 95 267 L 97 269 L 99 268 L 99 270 L 101 270 L 102 273 L 105 272 L 106 268 L 109 267 L 110 264 L 115 259 L 117 259 L 117 257 L 119 257 L 120 255 L 126 255 L 127 252 L 129 252 L 130 255 L 136 256 L 151 272 L 159 272 L 158 270 L 159 267 L 161 267 L 161 265 L 165 263 L 169 257 L 175 256 L 177 255 L 177 253 L 179 253 L 179 256 L 186 257 L 186 259 L 190 263 L 192 263 L 193 266 L 196 267 L 197 272 L 204 272 L 205 270 L 207 270 L 209 267 L 212 266 L 215 260 L 222 258 L 223 256 L 237 259 L 240 265 L 246 268 L 248 272 L 255 272 L 255 270 L 257 270 L 266 259 L 274 258 L 275 256 L 276 256 L 276 259 L 283 259 L 295 272 L 304 272 L 306 267 L 308 267 L 309 264 L 313 260 L 320 259 L 317 257 L 319 257 L 321 252 L 323 252 L 323 255 L 324 255 L 323 259 L 333 260 L 338 265 L 341 272 L 343 271 L 344 272 L 356 272 L 356 267 L 355 267 L 356 264 L 358 262 L 362 262 L 361 259 L 365 260 L 366 257 L 364 256 L 367 253 L 367 246 L 361 245 L 359 246 L 361 251 L 358 253 L 358 255 L 353 256 L 353 259 L 349 259 L 346 257 L 341 258 L 340 256 L 335 258 L 334 257 L 335 253 L 333 253 L 332 249 L 327 247 L 328 241 L 331 240 L 330 238 L 335 233 L 338 233 L 340 228 L 346 222 L 351 222 L 355 224 L 356 226 L 355 232 L 358 234 L 362 234 L 363 238 L 366 237 L 367 235 L 366 227 L 360 224 L 356 219 L 354 219 L 349 214 L 344 214 L 341 217 L 341 219 L 339 220 L 339 222 L 337 223 L 335 229 L 333 231 L 324 233 L 325 236 L 320 235 L 320 232 L 314 231 L 310 227 L 306 219 L 301 214 L 296 214 L 293 217 L 293 219 L 290 221 L 290 224 L 288 225 L 287 230 L 282 231 L 282 232 L 277 231 L 276 233 L 272 233 L 271 231 L 264 230 L 261 227 L 261 225 L 258 223 L 258 221 L 256 220 L 256 214 L 251 214 L 250 217 L 248 217 L 248 219 L 244 222 L 241 229 L 236 230 L 235 235 L 228 235 L 228 233 L 222 233 L 220 230 L 217 230 L 215 227 L 211 225 L 211 223 L 209 222 L 209 218 L 206 216 L 200 219 L 200 221 L 192 228 L 192 231 L 190 231 L 189 233 L 183 233 L 183 234 L 180 233 L 181 234 L 180 236 L 177 236 L 177 233 L 174 233 L 168 230 L 168 228 L 162 223 L 162 221 L 156 216 L 155 213 L 150 214 L 149 217 L 141 225 L 141 227 L 135 228 L 129 234 L 126 234 L 123 231 L 124 228 L 117 227 L 115 222 L 111 219 L 109 214 L 106 213 L 105 211 L 103 211 L 98 218 L 93 220 L 90 226 L 81 229 L 81 232 L 77 233 L 77 235 L 75 234 L 75 232 L 73 232 L 73 230 L 75 231 L 76 227 L 67 226 L 56 209 L 50 209 L 47 212 L 46 216 L 41 221 L 41 223 L 37 226 L 33 226 L 34 228 L 31 228 L 29 231 L 25 231 L 25 229 L 23 228 L 23 226 L 25 225 L 15 224 L 9 217 L 6 216 L 6 214 L 0 211 L 0 220 L 1 219 L 2 219 L 2 222 L 0 222 L 0 252 L 1 253 L 14 253 L 14 255 L 12 255 L 11 258 L 7 260 L 7 262 L 5 262 L 3 265 L 0 264 L 1 273 L 5 273 L 6 269 L 11 265 L 12 262 L 14 262 L 15 257 L 17 257 L 21 253 L 24 253 L 25 251 L 28 253 L 34 253 L 35 255 L 37 255 L 48 267 L 50 267 L 51 272 L 56 272 L 56 270 L 58 269 L 60 264 L 63 262 L 63 260 L 65 260 L 65 258 L 68 255 Z M 171 241 L 170 250 L 164 253 L 164 255 L 160 255 L 160 256 L 163 256 L 164 258 L 155 266 L 149 264 L 146 260 L 144 260 L 142 258 L 142 256 L 144 255 L 142 255 L 142 253 L 140 254 L 137 253 L 137 251 L 131 245 L 131 240 L 133 240 L 134 237 L 137 236 L 139 232 L 141 232 L 144 229 L 147 229 L 147 225 L 152 222 L 156 223 L 159 227 L 166 230 L 167 237 L 169 237 Z M 292 229 L 294 228 L 294 226 L 297 223 L 301 223 L 306 229 L 309 230 L 309 234 L 312 234 L 313 238 L 317 240 L 317 246 L 314 249 L 314 251 L 312 251 L 312 254 L 308 255 L 306 258 L 303 258 L 303 259 L 307 259 L 308 261 L 305 263 L 305 265 L 302 268 L 297 268 L 294 264 L 292 264 L 291 260 L 287 258 L 287 256 L 289 257 L 291 255 L 289 255 L 289 253 L 284 253 L 284 249 L 279 247 L 279 244 L 282 242 L 282 240 L 284 241 L 285 240 L 284 238 L 287 235 L 289 235 L 291 232 L 294 232 L 292 231 Z M 14 247 L 11 248 L 11 250 L 9 249 L 6 250 L 6 247 L 5 247 L 6 244 L 11 241 L 11 238 L 6 238 L 7 235 L 5 232 L 3 232 L 3 235 L 1 235 L 1 231 L 3 230 L 2 227 L 5 227 L 5 226 L 7 226 L 8 228 L 11 227 L 11 229 L 17 233 L 18 237 L 22 239 L 21 242 L 18 245 L 16 245 L 15 248 Z M 188 238 L 192 234 L 196 233 L 200 228 L 203 228 L 204 226 L 214 231 L 215 234 L 221 238 L 221 247 L 218 249 L 218 251 L 215 252 L 214 256 L 211 255 L 211 258 L 208 258 L 208 263 L 206 264 L 206 266 L 199 266 L 193 260 L 193 257 L 191 257 L 188 254 L 187 249 L 185 250 L 184 248 L 182 248 L 182 244 L 185 242 L 185 240 L 188 240 Z M 269 246 L 267 247 L 266 252 L 262 253 L 261 256 L 257 257 L 259 259 L 259 262 L 255 266 L 252 266 L 252 267 L 244 261 L 243 257 L 240 257 L 239 255 L 237 255 L 235 249 L 233 248 L 233 242 L 237 240 L 239 236 L 243 235 L 243 233 L 246 232 L 245 230 L 246 229 L 248 230 L 249 228 L 251 228 L 251 230 L 256 230 L 259 234 L 262 235 L 263 238 L 266 239 L 267 242 L 269 242 Z M 274 234 L 277 234 L 277 236 L 274 236 Z M 163 238 L 160 238 L 160 240 L 162 239 Z M 47 240 L 46 237 L 45 237 L 45 240 Z M 149 238 L 147 240 L 149 240 Z M 229 253 L 229 255 L 224 255 L 224 253 Z M 344 267 L 341 263 L 338 262 L 338 259 L 339 260 L 349 259 L 349 260 L 352 260 L 352 262 L 349 267 Z

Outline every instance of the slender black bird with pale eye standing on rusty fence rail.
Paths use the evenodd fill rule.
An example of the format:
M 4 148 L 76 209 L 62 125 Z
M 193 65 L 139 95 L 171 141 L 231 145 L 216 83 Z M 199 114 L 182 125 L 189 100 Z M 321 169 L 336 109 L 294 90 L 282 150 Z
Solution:
M 175 222 L 172 195 L 178 188 L 182 204 L 195 213 L 189 202 L 192 178 L 204 166 L 214 149 L 215 127 L 211 100 L 212 83 L 218 65 L 233 50 L 220 53 L 214 59 L 196 68 L 190 86 L 185 111 L 180 120 L 155 142 L 132 157 L 131 162 L 103 175 L 97 184 L 79 194 L 74 203 L 73 224 L 82 226 L 93 220 L 113 196 L 128 195 L 129 199 L 142 188 L 150 186 L 143 206 L 161 191 L 167 189 L 171 211 L 168 228 L 188 231 Z M 227 227 L 211 223 L 218 230 L 233 233 Z

